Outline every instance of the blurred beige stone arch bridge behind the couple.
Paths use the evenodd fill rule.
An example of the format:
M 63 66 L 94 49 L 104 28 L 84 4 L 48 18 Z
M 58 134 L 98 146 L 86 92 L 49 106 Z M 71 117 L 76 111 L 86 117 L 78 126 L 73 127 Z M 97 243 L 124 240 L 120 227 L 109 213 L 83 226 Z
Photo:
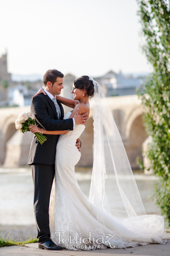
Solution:
M 133 169 L 138 168 L 136 158 L 142 158 L 142 143 L 147 135 L 142 123 L 142 106 L 137 95 L 108 97 L 107 102 L 120 132 L 129 162 Z M 4 167 L 17 167 L 27 164 L 33 134 L 20 134 L 15 129 L 19 113 L 29 111 L 30 106 L 0 109 L 0 164 Z M 68 111 L 66 107 L 64 109 Z M 81 159 L 78 166 L 93 165 L 93 108 L 85 131 L 80 137 Z

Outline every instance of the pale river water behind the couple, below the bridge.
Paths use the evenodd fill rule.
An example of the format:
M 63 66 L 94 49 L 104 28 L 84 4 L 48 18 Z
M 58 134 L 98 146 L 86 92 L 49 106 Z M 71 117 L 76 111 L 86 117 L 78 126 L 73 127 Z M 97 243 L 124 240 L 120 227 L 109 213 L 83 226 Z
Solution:
M 76 168 L 76 178 L 83 193 L 89 197 L 91 170 Z M 155 176 L 134 173 L 137 186 L 147 214 L 161 215 L 152 201 L 152 185 Z M 0 224 L 35 224 L 33 213 L 33 182 L 29 168 L 0 168 Z

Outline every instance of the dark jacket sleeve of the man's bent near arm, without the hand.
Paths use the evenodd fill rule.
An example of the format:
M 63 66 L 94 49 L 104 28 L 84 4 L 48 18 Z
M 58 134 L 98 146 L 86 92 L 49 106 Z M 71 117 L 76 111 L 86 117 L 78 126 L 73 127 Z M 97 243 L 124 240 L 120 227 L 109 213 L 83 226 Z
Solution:
M 54 120 L 51 119 L 45 102 L 42 98 L 36 96 L 32 99 L 31 111 L 35 115 L 36 121 L 48 131 L 64 131 L 64 130 L 73 130 L 73 119 L 65 120 Z M 51 109 L 51 111 L 53 111 Z

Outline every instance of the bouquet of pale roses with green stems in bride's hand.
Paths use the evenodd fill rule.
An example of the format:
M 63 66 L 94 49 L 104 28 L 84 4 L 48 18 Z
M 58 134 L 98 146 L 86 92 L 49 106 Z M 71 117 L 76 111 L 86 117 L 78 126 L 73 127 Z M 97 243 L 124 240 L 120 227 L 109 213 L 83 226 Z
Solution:
M 20 113 L 15 121 L 16 129 L 20 130 L 20 133 L 24 133 L 30 131 L 29 125 L 35 125 L 35 115 L 30 111 Z M 34 134 L 41 145 L 47 140 L 47 137 L 43 136 L 41 133 Z

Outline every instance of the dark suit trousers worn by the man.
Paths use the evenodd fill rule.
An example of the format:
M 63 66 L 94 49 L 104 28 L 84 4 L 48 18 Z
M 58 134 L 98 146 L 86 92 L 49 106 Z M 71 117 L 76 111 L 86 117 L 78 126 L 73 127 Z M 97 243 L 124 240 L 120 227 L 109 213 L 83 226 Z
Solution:
M 55 164 L 32 164 L 34 214 L 39 243 L 50 241 L 49 203 L 54 175 Z

